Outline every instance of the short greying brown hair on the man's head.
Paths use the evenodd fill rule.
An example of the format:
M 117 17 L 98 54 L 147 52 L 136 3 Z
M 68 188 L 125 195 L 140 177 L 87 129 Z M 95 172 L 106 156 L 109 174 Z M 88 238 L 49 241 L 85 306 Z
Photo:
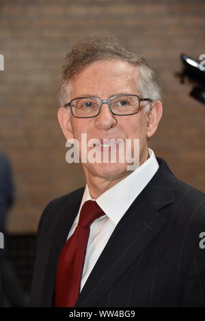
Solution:
M 127 51 L 122 46 L 120 39 L 113 34 L 92 35 L 87 40 L 75 44 L 66 54 L 59 88 L 59 103 L 61 106 L 68 103 L 72 75 L 97 60 L 122 60 L 137 66 L 137 71 L 139 71 L 137 89 L 139 93 L 142 97 L 150 98 L 152 101 L 162 100 L 159 81 L 142 55 Z M 149 110 L 150 103 L 146 105 L 146 111 Z

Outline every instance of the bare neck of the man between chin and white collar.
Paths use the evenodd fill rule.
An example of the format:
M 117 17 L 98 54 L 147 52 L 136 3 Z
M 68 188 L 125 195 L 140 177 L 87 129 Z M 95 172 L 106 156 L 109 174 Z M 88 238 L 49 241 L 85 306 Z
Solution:
M 141 155 L 139 166 L 146 162 L 146 160 L 149 158 L 148 149 L 146 150 L 146 153 Z M 85 172 L 85 179 L 87 186 L 89 188 L 90 196 L 93 199 L 98 198 L 101 194 L 112 188 L 114 185 L 122 181 L 125 177 L 131 174 L 132 171 L 126 170 L 126 172 L 123 172 L 122 175 L 119 175 L 118 177 L 111 177 L 111 179 L 107 179 L 104 177 L 98 177 L 96 175 L 93 175 L 93 173 L 88 170 L 87 168 L 83 168 Z

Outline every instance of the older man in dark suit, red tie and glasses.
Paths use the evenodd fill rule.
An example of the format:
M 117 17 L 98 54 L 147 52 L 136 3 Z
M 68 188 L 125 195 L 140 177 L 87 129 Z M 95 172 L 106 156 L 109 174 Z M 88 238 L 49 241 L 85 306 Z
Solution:
M 163 108 L 146 61 L 114 36 L 92 36 L 66 55 L 59 98 L 86 186 L 44 209 L 31 306 L 205 306 L 205 197 L 148 148 Z M 87 152 L 97 148 L 101 162 L 82 162 L 82 134 L 98 142 Z M 128 140 L 139 142 L 133 170 L 119 161 Z

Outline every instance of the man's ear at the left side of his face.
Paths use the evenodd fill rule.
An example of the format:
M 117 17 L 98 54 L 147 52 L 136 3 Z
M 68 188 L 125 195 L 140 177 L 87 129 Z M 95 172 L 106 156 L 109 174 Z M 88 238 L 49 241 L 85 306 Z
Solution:
M 70 117 L 70 110 L 67 110 L 65 107 L 59 107 L 59 110 L 57 111 L 57 118 L 59 121 L 59 125 L 61 126 L 61 129 L 64 133 L 64 136 L 66 137 L 66 140 L 73 138 Z

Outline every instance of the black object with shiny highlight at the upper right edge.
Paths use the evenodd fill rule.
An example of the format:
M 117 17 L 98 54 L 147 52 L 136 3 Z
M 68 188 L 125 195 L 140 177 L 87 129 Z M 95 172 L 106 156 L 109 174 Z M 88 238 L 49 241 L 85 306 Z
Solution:
M 205 70 L 203 70 L 202 62 L 198 62 L 184 53 L 180 55 L 180 58 L 183 69 L 181 73 L 176 73 L 176 76 L 180 77 L 182 84 L 185 81 L 191 83 L 193 85 L 190 92 L 191 97 L 205 104 Z

